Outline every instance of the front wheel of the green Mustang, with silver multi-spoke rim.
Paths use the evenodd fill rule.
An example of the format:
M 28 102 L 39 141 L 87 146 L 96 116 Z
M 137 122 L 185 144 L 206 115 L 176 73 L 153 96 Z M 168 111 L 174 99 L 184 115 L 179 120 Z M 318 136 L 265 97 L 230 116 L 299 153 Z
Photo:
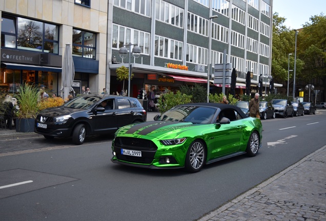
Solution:
M 205 160 L 205 146 L 201 141 L 195 140 L 187 151 L 185 167 L 189 172 L 198 172 L 205 164 Z

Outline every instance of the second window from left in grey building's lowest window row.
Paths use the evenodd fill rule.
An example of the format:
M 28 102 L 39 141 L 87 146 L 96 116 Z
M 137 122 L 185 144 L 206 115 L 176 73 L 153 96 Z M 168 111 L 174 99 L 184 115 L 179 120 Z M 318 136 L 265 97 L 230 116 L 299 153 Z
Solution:
M 155 56 L 182 60 L 182 42 L 156 35 Z

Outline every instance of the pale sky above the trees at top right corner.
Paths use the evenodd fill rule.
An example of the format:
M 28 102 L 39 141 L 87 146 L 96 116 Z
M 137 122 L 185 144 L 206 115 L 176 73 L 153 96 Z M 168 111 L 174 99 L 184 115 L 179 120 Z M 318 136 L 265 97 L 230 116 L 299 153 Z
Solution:
M 300 29 L 310 17 L 326 14 L 326 0 L 273 0 L 273 14 L 286 18 L 284 25 L 289 29 Z

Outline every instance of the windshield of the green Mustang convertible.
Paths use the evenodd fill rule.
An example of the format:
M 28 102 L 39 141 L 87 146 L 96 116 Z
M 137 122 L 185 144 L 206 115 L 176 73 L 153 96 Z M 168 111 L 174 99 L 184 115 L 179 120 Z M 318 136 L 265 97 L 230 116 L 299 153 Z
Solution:
M 212 121 L 215 108 L 198 106 L 178 106 L 160 115 L 157 120 L 208 123 Z

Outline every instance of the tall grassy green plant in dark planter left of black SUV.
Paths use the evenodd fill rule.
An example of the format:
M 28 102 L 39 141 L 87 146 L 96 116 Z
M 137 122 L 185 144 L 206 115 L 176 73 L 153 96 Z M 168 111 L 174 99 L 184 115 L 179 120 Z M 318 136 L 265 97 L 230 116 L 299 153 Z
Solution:
M 18 118 L 36 118 L 38 113 L 37 88 L 33 85 L 22 84 L 17 94 L 19 105 Z

